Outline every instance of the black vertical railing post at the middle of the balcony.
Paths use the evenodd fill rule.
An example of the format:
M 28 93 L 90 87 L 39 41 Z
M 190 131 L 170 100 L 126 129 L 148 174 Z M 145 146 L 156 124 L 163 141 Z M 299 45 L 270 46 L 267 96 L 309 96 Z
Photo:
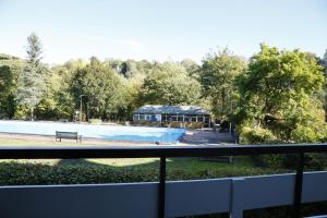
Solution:
M 166 209 L 166 157 L 160 157 L 160 178 L 158 193 L 158 217 L 165 218 Z

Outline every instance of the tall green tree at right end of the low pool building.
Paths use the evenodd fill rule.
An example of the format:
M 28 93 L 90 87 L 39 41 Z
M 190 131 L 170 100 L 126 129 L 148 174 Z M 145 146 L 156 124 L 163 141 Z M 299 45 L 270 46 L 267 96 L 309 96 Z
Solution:
M 204 97 L 211 101 L 211 111 L 219 120 L 226 120 L 235 101 L 234 80 L 245 69 L 242 58 L 228 48 L 208 53 L 199 70 Z

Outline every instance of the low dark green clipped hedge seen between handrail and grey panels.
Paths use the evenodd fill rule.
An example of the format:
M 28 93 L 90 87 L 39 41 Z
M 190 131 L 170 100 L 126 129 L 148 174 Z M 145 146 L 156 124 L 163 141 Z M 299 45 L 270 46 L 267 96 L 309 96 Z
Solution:
M 227 169 L 167 169 L 168 180 L 192 180 L 255 174 L 281 173 L 284 170 L 242 168 L 231 166 Z M 20 164 L 16 161 L 0 164 L 0 185 L 22 184 L 93 184 L 120 182 L 158 181 L 156 168 L 114 168 L 108 166 L 49 166 L 45 164 Z

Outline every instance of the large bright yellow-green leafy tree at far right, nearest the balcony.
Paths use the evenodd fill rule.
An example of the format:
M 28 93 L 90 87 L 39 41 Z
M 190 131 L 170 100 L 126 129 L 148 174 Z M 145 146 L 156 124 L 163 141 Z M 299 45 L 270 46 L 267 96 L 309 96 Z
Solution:
M 318 141 L 326 133 L 322 102 L 315 97 L 323 84 L 322 68 L 313 56 L 262 45 L 238 78 L 239 123 L 243 130 L 271 131 L 281 142 Z

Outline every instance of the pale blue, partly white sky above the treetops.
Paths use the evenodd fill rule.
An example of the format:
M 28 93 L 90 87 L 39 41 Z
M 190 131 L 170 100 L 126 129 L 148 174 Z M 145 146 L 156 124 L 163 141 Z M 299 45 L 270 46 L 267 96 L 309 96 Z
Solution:
M 226 46 L 250 58 L 262 43 L 322 57 L 327 0 L 0 0 L 0 53 L 25 58 L 32 32 L 46 63 L 92 56 L 201 62 Z

